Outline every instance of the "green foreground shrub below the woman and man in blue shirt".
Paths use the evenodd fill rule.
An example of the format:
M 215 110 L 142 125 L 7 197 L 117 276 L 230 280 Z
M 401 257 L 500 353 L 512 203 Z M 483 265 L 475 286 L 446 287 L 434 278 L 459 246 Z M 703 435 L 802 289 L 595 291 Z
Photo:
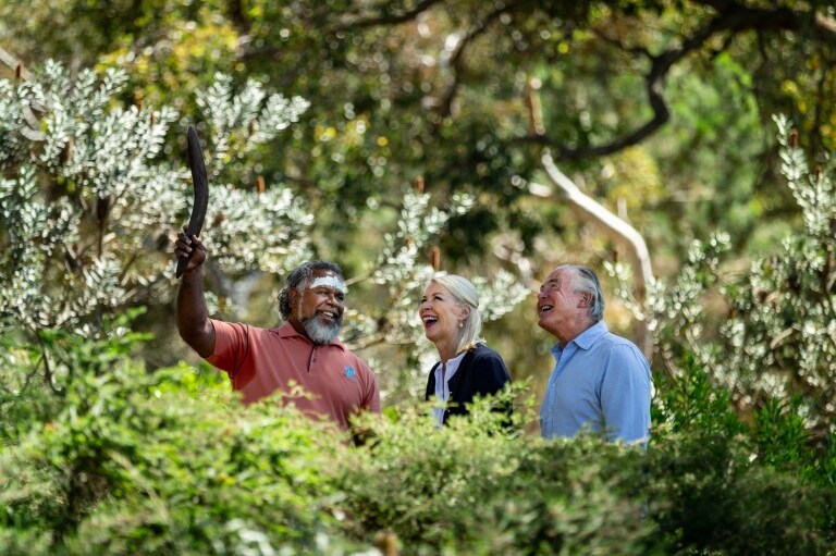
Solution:
M 437 429 L 419 406 L 371 422 L 377 442 L 339 478 L 354 534 L 393 534 L 405 554 L 651 553 L 639 450 L 505 433 L 502 419 L 477 407 Z

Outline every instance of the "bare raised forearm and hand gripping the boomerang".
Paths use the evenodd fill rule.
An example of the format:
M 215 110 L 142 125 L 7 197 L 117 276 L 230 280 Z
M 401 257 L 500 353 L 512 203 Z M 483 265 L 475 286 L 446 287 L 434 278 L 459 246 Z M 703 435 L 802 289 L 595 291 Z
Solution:
M 214 326 L 209 321 L 209 310 L 204 295 L 202 268 L 206 261 L 206 247 L 196 235 L 189 238 L 185 232 L 181 232 L 174 244 L 174 255 L 181 259 L 188 259 L 177 292 L 180 337 L 200 357 L 209 357 L 214 351 Z

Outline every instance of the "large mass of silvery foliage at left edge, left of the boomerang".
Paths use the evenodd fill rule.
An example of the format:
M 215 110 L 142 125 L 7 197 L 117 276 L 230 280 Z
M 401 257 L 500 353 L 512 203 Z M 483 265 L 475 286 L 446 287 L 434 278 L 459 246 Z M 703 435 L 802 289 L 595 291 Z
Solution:
M 138 280 L 152 282 L 146 259 L 124 261 L 182 206 L 176 174 L 151 164 L 175 114 L 114 108 L 125 83 L 114 70 L 71 78 L 54 62 L 36 81 L 0 83 L 0 121 L 14 124 L 0 150 L 4 325 L 89 333 L 103 310 L 134 299 Z

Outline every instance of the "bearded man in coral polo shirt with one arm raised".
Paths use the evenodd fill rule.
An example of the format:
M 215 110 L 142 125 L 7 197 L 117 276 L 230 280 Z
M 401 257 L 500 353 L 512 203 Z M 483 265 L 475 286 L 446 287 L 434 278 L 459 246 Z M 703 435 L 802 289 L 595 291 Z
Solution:
M 346 289 L 340 267 L 314 261 L 296 268 L 279 298 L 285 322 L 259 329 L 209 318 L 201 271 L 207 252 L 197 236 L 181 232 L 174 254 L 188 258 L 177 293 L 180 335 L 226 371 L 244 403 L 281 391 L 285 403 L 311 417 L 327 416 L 343 429 L 360 410 L 380 412 L 374 373 L 337 337 Z M 292 396 L 294 384 L 309 395 Z

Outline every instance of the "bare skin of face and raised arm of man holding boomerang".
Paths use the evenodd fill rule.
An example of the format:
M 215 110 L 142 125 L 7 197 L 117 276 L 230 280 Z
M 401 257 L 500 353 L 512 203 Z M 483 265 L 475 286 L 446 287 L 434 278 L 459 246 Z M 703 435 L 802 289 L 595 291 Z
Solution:
M 197 236 L 189 238 L 185 232 L 177 235 L 174 245 L 174 254 L 177 257 L 190 256 L 177 292 L 177 329 L 183 341 L 200 357 L 206 358 L 214 353 L 216 341 L 214 326 L 209 320 L 204 293 L 202 265 L 207 258 L 206 247 Z M 314 271 L 314 279 L 324 276 L 337 277 L 337 274 L 325 269 Z M 304 292 L 291 288 L 288 294 L 293 310 L 287 320 L 296 332 L 308 338 L 303 319 L 316 318 L 320 323 L 327 324 L 343 317 L 345 294 L 337 288 L 318 285 L 315 288 L 306 287 Z

